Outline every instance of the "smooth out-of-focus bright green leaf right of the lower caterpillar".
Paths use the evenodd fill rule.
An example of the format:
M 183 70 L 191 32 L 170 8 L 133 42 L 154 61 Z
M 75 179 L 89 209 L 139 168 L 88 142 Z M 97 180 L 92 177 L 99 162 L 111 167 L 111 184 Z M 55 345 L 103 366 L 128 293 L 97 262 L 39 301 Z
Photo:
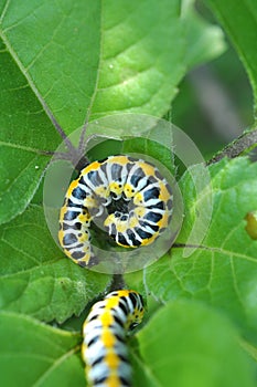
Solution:
M 137 338 L 135 387 L 255 386 L 251 360 L 234 326 L 200 303 L 168 303 Z

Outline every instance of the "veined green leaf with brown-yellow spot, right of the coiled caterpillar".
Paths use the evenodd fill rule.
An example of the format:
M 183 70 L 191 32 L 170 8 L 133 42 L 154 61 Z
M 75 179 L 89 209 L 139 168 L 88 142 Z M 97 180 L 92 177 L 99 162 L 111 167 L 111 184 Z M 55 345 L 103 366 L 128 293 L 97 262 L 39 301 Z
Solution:
M 146 284 L 163 302 L 202 300 L 256 333 L 257 241 L 247 233 L 245 217 L 257 208 L 257 164 L 246 158 L 223 160 L 210 172 L 212 187 L 197 197 L 190 171 L 182 178 L 185 216 L 176 248 L 146 269 Z M 210 227 L 202 223 L 205 238 L 191 251 L 186 241 L 206 202 L 213 202 L 212 221 Z

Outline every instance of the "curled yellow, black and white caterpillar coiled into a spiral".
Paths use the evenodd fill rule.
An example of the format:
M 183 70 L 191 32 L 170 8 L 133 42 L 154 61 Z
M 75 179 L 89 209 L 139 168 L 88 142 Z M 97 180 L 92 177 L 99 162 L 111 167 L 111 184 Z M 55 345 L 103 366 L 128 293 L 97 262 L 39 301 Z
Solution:
M 87 165 L 67 189 L 60 212 L 58 241 L 81 266 L 97 263 L 90 245 L 90 222 L 104 227 L 117 244 L 152 243 L 168 227 L 172 190 L 157 167 L 129 156 L 109 156 Z

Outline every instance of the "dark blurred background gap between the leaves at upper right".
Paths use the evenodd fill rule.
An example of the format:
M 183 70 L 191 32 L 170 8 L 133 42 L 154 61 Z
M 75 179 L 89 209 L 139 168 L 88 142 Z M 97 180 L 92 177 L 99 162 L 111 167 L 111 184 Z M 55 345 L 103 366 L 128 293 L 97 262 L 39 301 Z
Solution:
M 197 10 L 217 23 L 201 1 Z M 172 104 L 173 124 L 190 135 L 205 159 L 253 124 L 248 77 L 229 40 L 226 41 L 224 54 L 185 76 Z

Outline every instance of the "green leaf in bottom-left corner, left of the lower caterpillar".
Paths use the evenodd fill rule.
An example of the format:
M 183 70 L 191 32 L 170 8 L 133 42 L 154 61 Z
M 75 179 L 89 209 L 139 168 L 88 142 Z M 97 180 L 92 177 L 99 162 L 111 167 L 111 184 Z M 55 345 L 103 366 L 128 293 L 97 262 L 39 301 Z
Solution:
M 81 335 L 15 313 L 0 313 L 0 374 L 8 387 L 85 386 Z

